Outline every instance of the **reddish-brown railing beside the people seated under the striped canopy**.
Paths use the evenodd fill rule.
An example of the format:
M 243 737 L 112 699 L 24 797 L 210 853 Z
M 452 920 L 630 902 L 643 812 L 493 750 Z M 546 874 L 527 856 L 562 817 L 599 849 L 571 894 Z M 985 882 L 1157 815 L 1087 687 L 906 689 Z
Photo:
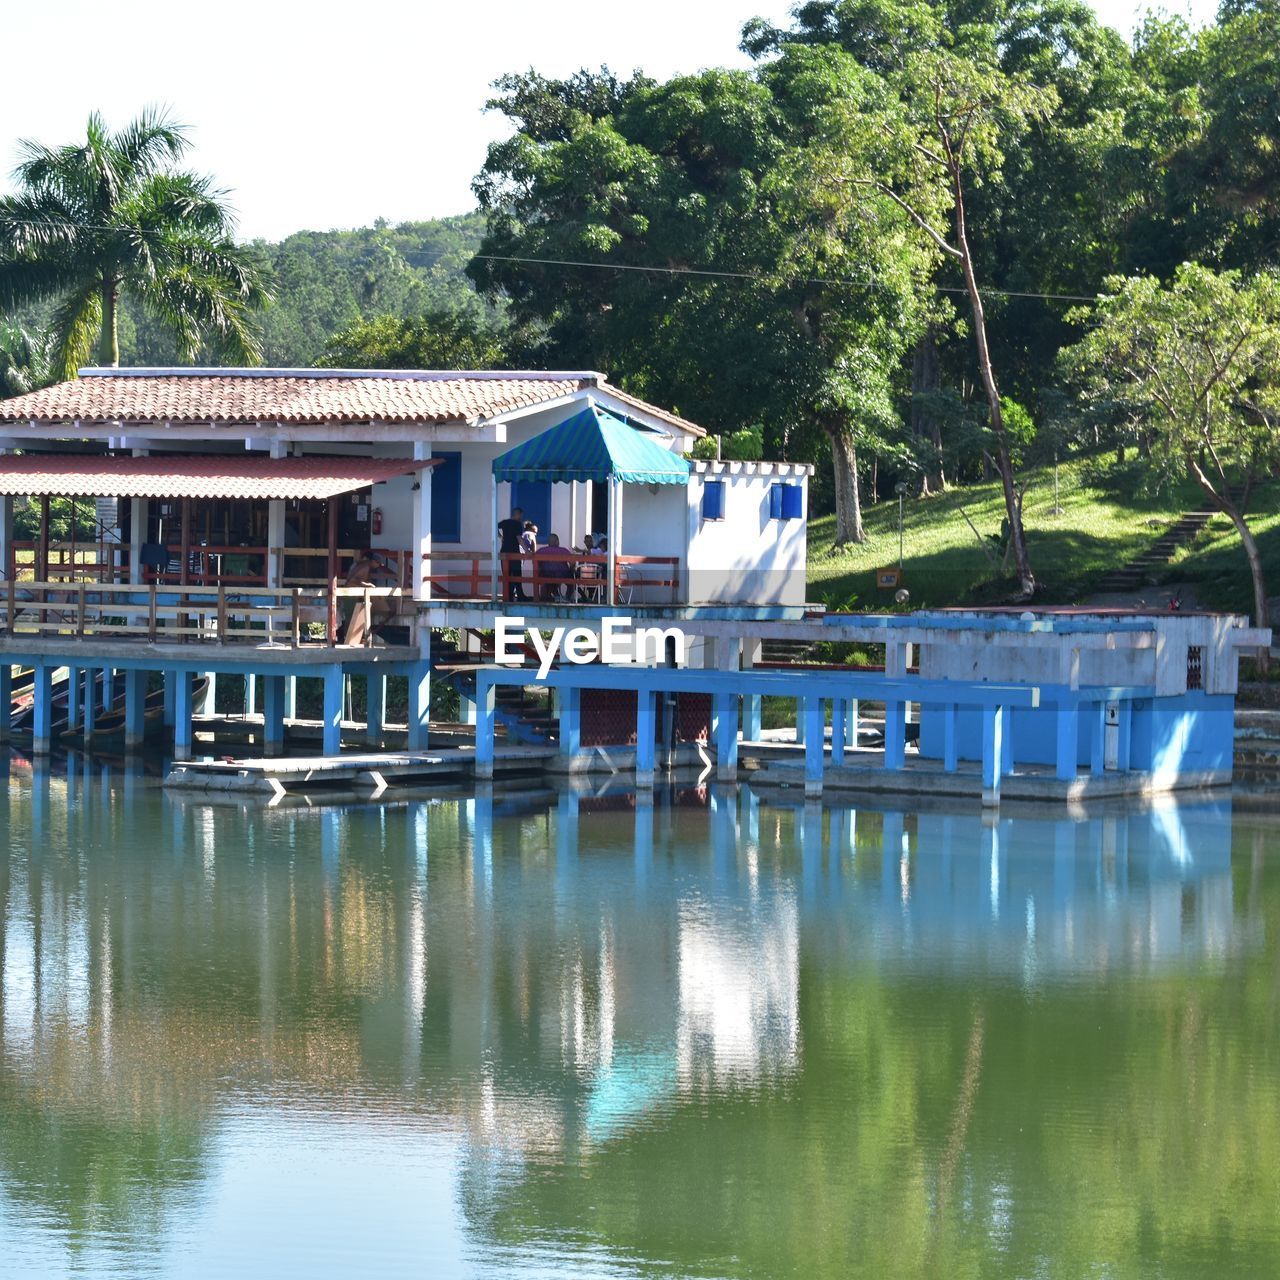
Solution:
M 422 554 L 422 576 L 433 596 L 493 599 L 493 552 L 433 550 Z M 498 599 L 518 590 L 529 600 L 579 604 L 608 603 L 608 557 L 586 556 L 554 547 L 532 556 L 499 556 Z M 677 603 L 680 558 L 676 556 L 618 556 L 614 562 L 620 604 Z

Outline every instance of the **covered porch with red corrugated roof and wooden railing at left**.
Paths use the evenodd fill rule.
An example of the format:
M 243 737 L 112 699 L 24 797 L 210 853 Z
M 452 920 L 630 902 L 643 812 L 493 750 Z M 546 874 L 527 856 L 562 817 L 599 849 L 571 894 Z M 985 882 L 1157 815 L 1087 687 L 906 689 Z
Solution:
M 392 613 L 404 614 L 407 630 L 413 609 L 402 602 L 415 595 L 407 548 L 380 552 L 378 584 L 339 584 L 352 557 L 379 550 L 371 486 L 431 465 L 248 453 L 3 457 L 3 631 L 333 646 L 344 595 L 361 598 L 353 607 L 366 611 L 374 598 L 387 598 Z M 19 497 L 38 504 L 35 539 L 14 538 Z M 54 498 L 68 499 L 72 509 L 70 538 L 60 545 L 51 536 Z M 352 509 L 362 511 L 362 520 L 357 515 L 353 522 Z M 87 539 L 77 520 L 81 511 L 91 513 L 93 536 Z M 323 544 L 297 545 L 289 538 L 291 517 L 296 530 L 321 531 Z M 234 541 L 228 538 L 233 521 Z M 223 540 L 211 541 L 219 526 Z M 247 540 L 255 529 L 265 530 L 265 543 Z M 352 531 L 362 536 L 352 539 Z M 347 549 L 344 540 L 356 545 Z

